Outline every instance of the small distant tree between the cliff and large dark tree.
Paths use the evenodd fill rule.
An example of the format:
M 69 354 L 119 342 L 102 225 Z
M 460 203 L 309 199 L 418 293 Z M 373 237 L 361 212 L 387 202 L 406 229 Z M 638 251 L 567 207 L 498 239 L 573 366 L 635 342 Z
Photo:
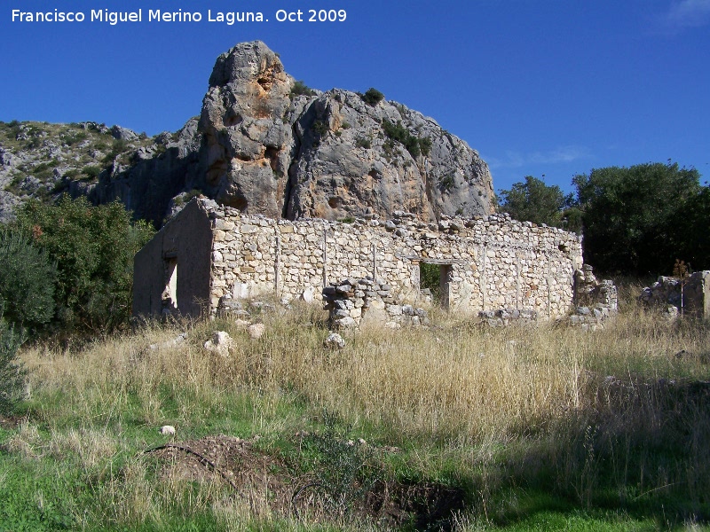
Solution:
M 501 190 L 499 210 L 521 222 L 546 223 L 568 231 L 579 231 L 579 215 L 574 210 L 572 194 L 565 195 L 556 184 L 548 186 L 533 176 Z

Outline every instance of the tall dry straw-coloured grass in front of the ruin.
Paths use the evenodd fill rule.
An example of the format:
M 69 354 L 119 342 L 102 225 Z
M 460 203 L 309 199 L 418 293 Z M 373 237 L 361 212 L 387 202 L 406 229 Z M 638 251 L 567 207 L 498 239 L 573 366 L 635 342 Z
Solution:
M 296 401 L 311 413 L 334 411 L 383 443 L 409 446 L 409 466 L 422 474 L 455 459 L 474 479 L 472 497 L 485 519 L 514 505 L 493 502 L 510 478 L 514 486 L 566 486 L 587 507 L 606 474 L 626 501 L 681 485 L 700 500 L 710 489 L 706 403 L 682 384 L 710 377 L 707 325 L 670 323 L 629 304 L 596 332 L 491 331 L 448 317 L 429 330 L 366 329 L 331 351 L 322 345 L 323 314 L 305 305 L 264 314 L 260 340 L 217 321 L 185 325 L 188 340 L 177 346 L 167 342 L 183 328 L 154 326 L 77 351 L 26 349 L 32 419 L 49 434 L 26 424 L 4 447 L 27 458 L 77 457 L 95 471 L 136 447 L 126 426 L 170 423 L 178 434 L 201 434 L 213 417 L 244 415 L 230 410 L 241 396 L 256 405 L 248 410 L 253 432 L 293 434 L 305 422 Z M 217 329 L 233 336 L 227 358 L 201 347 Z M 649 438 L 690 447 L 685 458 L 659 465 L 652 446 L 644 447 Z M 97 494 L 112 522 L 162 522 L 176 507 L 185 515 L 212 512 L 228 529 L 277 519 L 265 506 L 253 512 L 209 488 L 149 478 L 133 458 L 120 474 L 107 474 Z

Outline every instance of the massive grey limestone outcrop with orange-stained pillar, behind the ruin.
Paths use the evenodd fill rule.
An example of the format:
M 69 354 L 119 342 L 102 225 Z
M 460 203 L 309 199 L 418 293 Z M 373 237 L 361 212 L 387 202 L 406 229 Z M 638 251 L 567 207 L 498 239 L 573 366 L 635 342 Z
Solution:
M 217 59 L 200 129 L 218 202 L 290 219 L 492 212 L 487 165 L 436 121 L 347 90 L 307 96 L 293 87 L 264 43 Z

